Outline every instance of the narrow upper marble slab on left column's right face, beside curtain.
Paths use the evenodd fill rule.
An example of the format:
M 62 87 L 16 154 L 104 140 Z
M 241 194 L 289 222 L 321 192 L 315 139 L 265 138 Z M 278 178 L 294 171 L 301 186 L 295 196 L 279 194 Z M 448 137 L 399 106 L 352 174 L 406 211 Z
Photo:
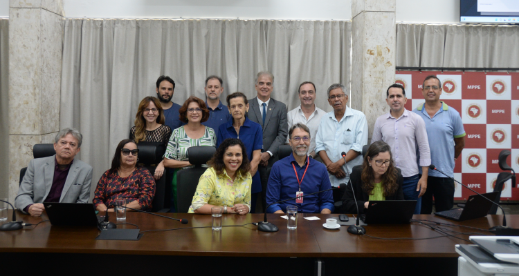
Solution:
M 40 133 L 60 129 L 60 86 L 62 72 L 62 17 L 42 10 L 42 81 L 40 90 Z

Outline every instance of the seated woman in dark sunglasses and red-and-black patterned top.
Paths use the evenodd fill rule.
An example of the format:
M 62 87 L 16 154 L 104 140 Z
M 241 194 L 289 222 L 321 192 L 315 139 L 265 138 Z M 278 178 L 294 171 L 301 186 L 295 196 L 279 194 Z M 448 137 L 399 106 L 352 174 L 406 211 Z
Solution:
M 133 140 L 120 141 L 111 160 L 111 168 L 104 172 L 95 188 L 95 210 L 104 212 L 108 209 L 109 212 L 113 212 L 116 199 L 127 199 L 129 208 L 152 208 L 155 180 L 147 168 L 137 165 L 138 152 Z

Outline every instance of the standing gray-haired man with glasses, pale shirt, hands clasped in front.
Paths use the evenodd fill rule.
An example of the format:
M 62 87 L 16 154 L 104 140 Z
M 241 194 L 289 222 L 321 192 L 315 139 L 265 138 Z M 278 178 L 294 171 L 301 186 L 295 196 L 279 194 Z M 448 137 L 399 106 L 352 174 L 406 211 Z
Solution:
M 367 144 L 366 116 L 347 107 L 345 92 L 340 83 L 328 88 L 328 103 L 334 111 L 322 117 L 316 136 L 316 152 L 326 165 L 332 187 L 348 183 L 352 168 L 362 164 L 362 147 Z M 341 152 L 346 153 L 344 158 Z M 343 194 L 344 191 L 334 190 L 334 201 L 340 201 Z

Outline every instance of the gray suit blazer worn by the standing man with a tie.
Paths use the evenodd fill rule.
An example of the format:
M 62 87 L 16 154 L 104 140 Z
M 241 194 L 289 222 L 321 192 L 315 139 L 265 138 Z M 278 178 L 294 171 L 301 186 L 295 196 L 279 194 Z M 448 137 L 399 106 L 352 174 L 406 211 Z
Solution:
M 268 160 L 268 165 L 272 166 L 277 161 L 277 152 L 280 146 L 286 141 L 289 134 L 289 125 L 286 120 L 286 106 L 281 101 L 271 98 L 266 108 L 265 125 L 263 125 L 261 106 L 257 103 L 257 97 L 248 100 L 250 107 L 247 116 L 251 121 L 260 124 L 263 129 L 263 152 L 272 152 L 272 158 Z

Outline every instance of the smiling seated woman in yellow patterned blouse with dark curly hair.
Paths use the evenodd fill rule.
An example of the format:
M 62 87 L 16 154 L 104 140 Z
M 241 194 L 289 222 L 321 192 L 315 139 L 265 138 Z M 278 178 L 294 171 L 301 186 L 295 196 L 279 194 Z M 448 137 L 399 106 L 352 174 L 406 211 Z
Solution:
M 223 206 L 224 213 L 248 213 L 253 178 L 242 141 L 225 139 L 208 164 L 210 168 L 200 177 L 188 213 L 210 214 L 213 206 Z

